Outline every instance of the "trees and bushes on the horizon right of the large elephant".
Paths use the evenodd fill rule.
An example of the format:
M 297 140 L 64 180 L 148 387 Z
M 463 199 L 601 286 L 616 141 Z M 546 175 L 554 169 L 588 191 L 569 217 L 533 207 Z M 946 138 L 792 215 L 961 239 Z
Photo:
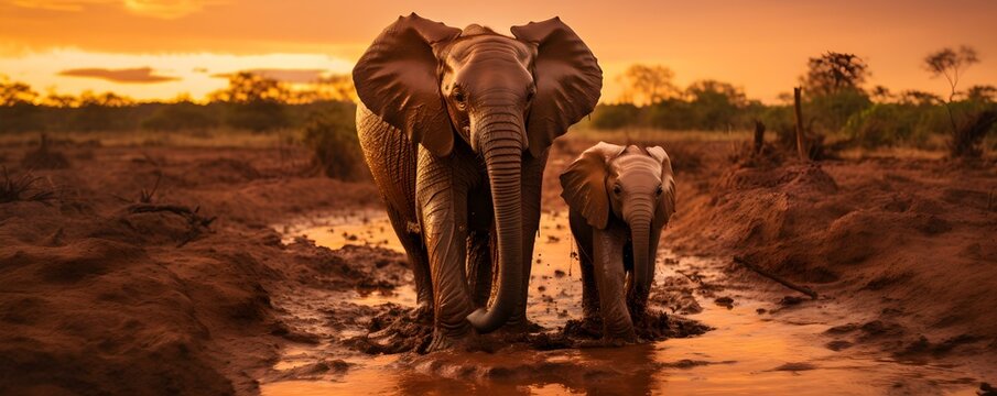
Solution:
M 976 52 L 965 46 L 943 48 L 924 58 L 925 78 L 949 84 L 950 95 L 942 98 L 918 90 L 868 87 L 871 67 L 854 54 L 828 52 L 812 57 L 806 73 L 799 77 L 804 130 L 839 147 L 949 148 L 953 156 L 978 156 L 988 135 L 985 145 L 997 147 L 993 121 L 997 88 L 958 86 L 960 76 L 976 63 Z M 717 80 L 681 88 L 663 66 L 633 65 L 619 78 L 627 90 L 616 102 L 596 108 L 592 128 L 732 131 L 754 129 L 760 121 L 780 142 L 794 144 L 790 94 L 781 95 L 780 103 L 767 105 Z

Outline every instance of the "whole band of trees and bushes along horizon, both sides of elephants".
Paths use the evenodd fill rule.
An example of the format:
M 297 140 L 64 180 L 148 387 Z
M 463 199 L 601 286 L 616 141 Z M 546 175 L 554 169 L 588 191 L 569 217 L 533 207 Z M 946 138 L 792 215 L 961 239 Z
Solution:
M 978 62 L 977 53 L 966 46 L 924 57 L 925 78 L 949 86 L 950 95 L 943 98 L 869 87 L 873 67 L 854 54 L 812 57 L 799 77 L 804 132 L 836 148 L 947 150 L 956 157 L 997 150 L 997 88 L 958 84 Z M 617 78 L 624 94 L 604 98 L 582 128 L 711 133 L 751 130 L 760 122 L 787 147 L 795 144 L 791 94 L 781 95 L 777 103 L 763 103 L 749 99 L 740 87 L 713 79 L 683 88 L 662 65 L 636 64 Z M 228 82 L 203 101 L 181 96 L 142 102 L 113 92 L 41 95 L 26 84 L 2 78 L 0 132 L 279 132 L 311 146 L 316 164 L 329 176 L 351 178 L 348 174 L 360 172 L 353 167 L 359 156 L 353 136 L 356 97 L 348 75 L 332 75 L 304 88 L 251 73 L 232 74 Z

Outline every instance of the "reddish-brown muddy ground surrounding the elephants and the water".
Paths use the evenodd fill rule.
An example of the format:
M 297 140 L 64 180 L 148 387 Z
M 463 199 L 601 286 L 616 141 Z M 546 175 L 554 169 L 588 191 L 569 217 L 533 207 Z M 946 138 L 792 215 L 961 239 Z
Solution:
M 544 193 L 550 216 L 563 217 L 557 170 L 590 143 L 554 146 Z M 732 158 L 729 142 L 664 147 L 675 163 L 680 207 L 662 244 L 713 258 L 702 274 L 676 265 L 681 273 L 659 277 L 655 304 L 667 314 L 660 329 L 689 323 L 705 331 L 697 324 L 708 321 L 696 317 L 703 306 L 750 307 L 782 322 L 813 320 L 819 308 L 833 306 L 837 314 L 821 321 L 827 328 L 816 339 L 823 350 L 965 373 L 900 391 L 997 380 L 987 377 L 997 372 L 993 163 L 850 157 L 806 165 Z M 76 136 L 52 142 L 55 160 L 24 160 L 36 150 L 26 142 L 0 147 L 12 178 L 28 170 L 41 177 L 21 197 L 39 200 L 0 202 L 0 394 L 256 394 L 261 383 L 357 370 L 346 355 L 426 342 L 425 327 L 404 324 L 426 318 L 399 302 L 411 273 L 387 238 L 337 232 L 359 245 L 329 250 L 295 240 L 293 227 L 282 226 L 380 208 L 372 185 L 318 177 L 303 148 L 106 146 Z M 819 300 L 734 256 L 816 290 Z M 737 293 L 716 294 L 724 289 Z M 537 317 L 572 319 L 576 301 L 540 289 L 531 298 Z M 613 373 L 605 364 L 572 370 L 581 337 L 545 330 L 520 340 L 488 337 L 473 353 L 564 354 L 553 356 L 567 363 L 519 370 L 544 367 L 561 378 L 546 382 L 567 391 L 603 389 L 588 385 Z M 685 342 L 679 345 L 695 345 L 694 338 Z M 295 351 L 296 362 L 289 360 Z M 619 358 L 598 353 L 609 355 L 593 359 Z M 446 378 L 529 377 L 453 361 L 463 355 L 403 356 L 390 367 L 422 366 Z M 652 367 L 707 363 L 723 362 Z M 772 369 L 810 370 L 787 364 Z M 409 378 L 414 383 L 393 392 L 424 391 L 433 378 Z M 641 384 L 630 385 L 652 388 Z

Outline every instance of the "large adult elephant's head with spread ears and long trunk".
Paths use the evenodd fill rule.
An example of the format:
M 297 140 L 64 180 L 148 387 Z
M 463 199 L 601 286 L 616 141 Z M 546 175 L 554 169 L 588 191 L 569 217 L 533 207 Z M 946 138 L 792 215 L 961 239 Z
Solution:
M 521 166 L 588 114 L 602 69 L 560 19 L 463 31 L 414 13 L 388 26 L 353 72 L 364 105 L 437 156 L 467 144 L 491 187 L 499 280 L 490 310 L 468 316 L 481 332 L 502 326 L 522 297 Z M 457 139 L 463 143 L 455 142 Z

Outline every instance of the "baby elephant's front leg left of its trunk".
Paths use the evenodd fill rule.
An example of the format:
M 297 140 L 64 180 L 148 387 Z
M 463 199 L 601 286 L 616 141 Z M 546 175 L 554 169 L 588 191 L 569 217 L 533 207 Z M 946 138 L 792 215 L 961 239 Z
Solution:
M 593 272 L 599 290 L 603 338 L 632 342 L 637 334 L 626 301 L 627 275 L 622 263 L 626 240 L 626 231 L 618 228 L 593 230 Z

